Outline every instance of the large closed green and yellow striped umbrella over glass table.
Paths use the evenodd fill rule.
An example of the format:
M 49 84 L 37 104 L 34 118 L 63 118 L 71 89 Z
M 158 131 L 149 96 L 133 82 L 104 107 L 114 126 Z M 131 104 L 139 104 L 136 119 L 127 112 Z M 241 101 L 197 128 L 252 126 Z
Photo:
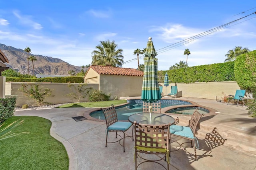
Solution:
M 141 93 L 141 100 L 144 102 L 157 102 L 162 97 L 158 85 L 156 55 L 153 42 L 149 37 L 144 57 L 144 76 Z

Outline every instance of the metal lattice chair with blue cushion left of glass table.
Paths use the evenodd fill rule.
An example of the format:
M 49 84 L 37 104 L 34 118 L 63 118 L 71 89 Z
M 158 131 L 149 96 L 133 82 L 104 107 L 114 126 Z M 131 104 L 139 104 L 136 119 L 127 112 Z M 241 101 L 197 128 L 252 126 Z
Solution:
M 107 128 L 106 128 L 106 147 L 107 147 L 107 143 L 116 143 L 119 142 L 124 138 L 125 138 L 125 131 L 127 131 L 128 129 L 130 129 L 130 127 L 132 126 L 132 131 L 133 131 L 133 124 L 130 122 L 124 122 L 124 121 L 118 121 L 117 120 L 117 113 L 116 113 L 116 109 L 114 107 L 114 105 L 112 105 L 111 107 L 107 107 L 107 108 L 102 108 L 102 111 L 104 113 L 105 119 L 106 119 L 106 124 L 107 124 Z M 124 137 L 122 138 L 120 135 L 120 139 L 118 141 L 115 142 L 108 142 L 108 132 L 116 132 L 116 138 L 117 138 L 117 132 L 122 132 L 124 133 Z M 132 135 L 132 141 L 134 140 L 133 135 Z M 120 143 L 121 145 L 121 143 Z M 122 145 L 124 147 L 124 143 Z M 125 152 L 125 150 L 124 150 Z

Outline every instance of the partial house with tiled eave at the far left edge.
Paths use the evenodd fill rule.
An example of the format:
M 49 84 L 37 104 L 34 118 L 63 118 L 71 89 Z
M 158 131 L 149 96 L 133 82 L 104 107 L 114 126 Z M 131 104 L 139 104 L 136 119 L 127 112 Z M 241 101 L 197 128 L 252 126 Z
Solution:
M 2 71 L 9 68 L 4 63 L 9 63 L 9 61 L 0 49 L 0 98 L 5 98 L 5 77 L 2 76 Z

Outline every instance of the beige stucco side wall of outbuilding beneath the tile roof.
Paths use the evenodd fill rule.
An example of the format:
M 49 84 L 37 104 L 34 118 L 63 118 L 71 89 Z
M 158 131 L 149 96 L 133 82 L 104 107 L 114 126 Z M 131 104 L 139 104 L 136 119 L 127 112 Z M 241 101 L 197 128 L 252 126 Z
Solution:
M 100 90 L 111 98 L 141 96 L 143 76 L 100 75 Z

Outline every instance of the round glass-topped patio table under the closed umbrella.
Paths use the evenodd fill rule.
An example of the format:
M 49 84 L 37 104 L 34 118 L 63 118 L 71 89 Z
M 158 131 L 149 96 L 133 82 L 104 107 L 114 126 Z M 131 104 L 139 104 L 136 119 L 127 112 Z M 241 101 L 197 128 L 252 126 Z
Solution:
M 149 124 L 149 125 L 162 125 L 162 124 L 173 124 L 175 119 L 172 116 L 165 115 L 162 113 L 135 113 L 128 117 L 128 120 L 131 123 L 136 121 L 141 124 Z

